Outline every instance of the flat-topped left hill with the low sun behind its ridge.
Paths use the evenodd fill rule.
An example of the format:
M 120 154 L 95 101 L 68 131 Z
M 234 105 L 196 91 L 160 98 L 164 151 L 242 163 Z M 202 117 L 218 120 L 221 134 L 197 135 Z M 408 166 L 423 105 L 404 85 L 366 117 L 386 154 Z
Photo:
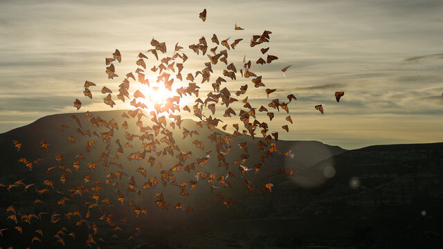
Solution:
M 84 176 L 87 176 L 87 174 L 89 174 L 89 172 L 87 172 L 88 165 L 91 162 L 102 160 L 100 158 L 103 157 L 102 151 L 105 151 L 106 144 L 100 141 L 102 140 L 101 138 L 93 135 L 88 136 L 85 134 L 85 132 L 89 131 L 92 133 L 93 131 L 97 131 L 98 136 L 101 136 L 102 132 L 107 132 L 109 131 L 109 129 L 106 129 L 105 127 L 93 127 L 91 122 L 87 120 L 89 117 L 84 116 L 83 113 L 64 113 L 53 116 L 46 116 L 24 127 L 19 127 L 17 129 L 13 129 L 6 133 L 0 134 L 0 156 L 3 158 L 3 160 L 1 160 L 0 162 L 0 170 L 2 172 L 2 174 L 0 175 L 0 183 L 6 186 L 13 186 L 13 183 L 19 180 L 22 180 L 25 184 L 35 183 L 35 186 L 29 188 L 28 193 L 24 192 L 22 186 L 13 186 L 10 187 L 10 190 L 0 188 L 0 194 L 3 200 L 0 203 L 0 208 L 6 210 L 8 206 L 14 205 L 17 210 L 20 210 L 21 213 L 26 214 L 33 212 L 42 212 L 42 210 L 46 210 L 45 212 L 48 213 L 60 212 L 60 214 L 68 212 L 68 210 L 70 212 L 73 212 L 75 210 L 84 210 L 84 205 L 82 201 L 80 201 L 80 199 L 86 201 L 87 203 L 90 203 L 91 199 L 88 198 L 90 194 L 86 194 L 85 196 L 82 196 L 82 198 L 79 197 L 80 199 L 74 198 L 72 200 L 71 196 L 69 196 L 72 193 L 71 190 L 75 189 L 75 187 L 78 187 L 79 184 L 86 187 L 93 187 L 93 181 L 98 180 L 100 181 L 100 185 L 104 187 L 104 189 L 101 191 L 100 196 L 109 196 L 109 199 L 114 200 L 115 202 L 118 194 L 114 193 L 114 188 L 109 188 L 104 185 L 104 183 L 109 180 L 106 176 L 109 175 L 110 172 L 121 171 L 127 174 L 127 176 L 121 178 L 121 180 L 118 181 L 122 186 L 119 187 L 118 190 L 121 190 L 121 192 L 125 193 L 127 184 L 129 183 L 129 177 L 134 176 L 136 184 L 139 188 L 141 188 L 147 178 L 158 176 L 159 172 L 162 169 L 170 169 L 174 166 L 175 163 L 177 163 L 177 161 L 174 162 L 173 160 L 167 158 L 161 158 L 159 160 L 156 160 L 155 163 L 155 165 L 161 163 L 161 168 L 157 168 L 155 166 L 152 167 L 149 163 L 147 163 L 147 158 L 149 158 L 149 156 L 146 156 L 144 160 L 141 160 L 139 162 L 134 162 L 134 160 L 128 161 L 126 159 L 126 156 L 130 153 L 130 151 L 136 151 L 137 149 L 140 149 L 139 146 L 141 144 L 141 140 L 138 140 L 138 137 L 134 138 L 134 140 L 132 141 L 132 145 L 134 146 L 134 148 L 131 149 L 129 147 L 124 147 L 125 153 L 121 155 L 121 158 L 115 160 L 112 159 L 116 155 L 114 153 L 116 153 L 117 147 L 114 141 L 120 140 L 120 143 L 124 145 L 127 142 L 125 133 L 140 134 L 140 132 L 137 131 L 139 128 L 136 126 L 137 118 L 122 118 L 122 114 L 123 111 L 102 111 L 93 113 L 93 117 L 100 117 L 101 120 L 105 120 L 106 122 L 109 122 L 111 118 L 114 118 L 116 124 L 118 124 L 118 129 L 114 129 L 114 136 L 112 142 L 110 143 L 112 152 L 111 154 L 105 156 L 109 158 L 107 159 L 109 160 L 109 162 L 113 161 L 116 162 L 116 164 L 109 165 L 100 161 L 100 166 L 98 167 L 98 169 L 91 172 L 93 178 L 89 182 L 86 182 L 83 179 Z M 72 118 L 73 115 L 75 115 L 75 117 L 77 117 L 80 121 L 81 128 L 78 126 L 78 124 L 76 124 L 75 119 Z M 143 121 L 144 125 L 152 126 L 154 123 L 150 120 L 150 118 L 151 117 L 142 117 L 141 120 Z M 127 121 L 128 123 L 127 129 L 123 129 L 122 127 L 122 124 L 125 121 Z M 60 126 L 62 124 L 67 126 L 63 131 L 60 129 Z M 196 122 L 192 120 L 183 120 L 181 127 L 187 128 L 189 130 L 194 130 L 196 129 Z M 80 128 L 82 134 L 78 132 L 78 128 Z M 317 141 L 279 140 L 277 141 L 277 145 L 280 149 L 281 154 L 275 154 L 274 156 L 267 158 L 265 160 L 265 163 L 262 165 L 260 172 L 258 171 L 258 169 L 256 172 L 253 167 L 255 163 L 260 163 L 260 154 L 257 153 L 257 145 L 255 144 L 257 143 L 259 138 L 255 138 L 255 140 L 252 140 L 250 136 L 231 136 L 231 149 L 230 152 L 226 155 L 226 162 L 230 162 L 231 164 L 229 165 L 229 168 L 226 169 L 226 167 L 218 167 L 219 165 L 217 154 L 215 153 L 215 146 L 213 143 L 210 142 L 210 139 L 208 138 L 208 136 L 210 136 L 210 134 L 212 133 L 207 128 L 196 129 L 198 134 L 195 134 L 192 137 L 188 136 L 185 139 L 183 139 L 182 131 L 179 130 L 178 127 L 176 127 L 175 129 L 169 129 L 174 132 L 175 143 L 179 145 L 181 151 L 192 151 L 192 160 L 205 157 L 206 151 L 211 151 L 208 163 L 204 165 L 204 167 L 195 165 L 195 169 L 191 169 L 190 173 L 185 172 L 183 169 L 181 170 L 181 172 L 177 172 L 177 183 L 181 183 L 181 181 L 195 181 L 196 178 L 194 174 L 198 171 L 215 173 L 217 175 L 217 178 L 221 175 L 226 175 L 228 171 L 233 172 L 235 176 L 231 176 L 228 180 L 228 182 L 231 184 L 231 187 L 219 187 L 218 189 L 213 190 L 214 193 L 210 191 L 210 186 L 217 185 L 218 183 L 210 184 L 206 183 L 206 181 L 200 180 L 196 190 L 189 190 L 190 195 L 188 197 L 180 196 L 180 191 L 177 190 L 177 187 L 163 187 L 160 181 L 159 187 L 157 189 L 149 190 L 147 192 L 143 191 L 143 193 L 141 193 L 141 196 L 137 196 L 137 194 L 135 193 L 123 194 L 127 200 L 125 201 L 124 208 L 134 209 L 134 207 L 132 206 L 127 206 L 126 203 L 129 203 L 129 201 L 135 201 L 138 205 L 150 207 L 147 208 L 147 221 L 150 222 L 150 225 L 147 225 L 146 223 L 140 225 L 143 230 L 150 232 L 150 238 L 152 238 L 154 235 L 154 237 L 156 238 L 158 238 L 159 236 L 162 237 L 164 231 L 168 231 L 171 233 L 174 231 L 177 232 L 177 228 L 180 228 L 189 222 L 192 224 L 201 223 L 206 219 L 210 219 L 210 217 L 212 217 L 213 214 L 216 213 L 219 214 L 219 217 L 217 218 L 242 217 L 244 216 L 244 211 L 246 210 L 246 208 L 248 208 L 244 206 L 244 200 L 246 201 L 253 195 L 260 196 L 261 198 L 263 196 L 261 188 L 264 187 L 266 183 L 273 183 L 275 186 L 277 186 L 279 183 L 283 183 L 284 181 L 287 181 L 287 179 L 292 177 L 290 175 L 284 174 L 284 172 L 282 174 L 278 174 L 278 169 L 286 169 L 287 167 L 292 167 L 296 170 L 296 172 L 298 172 L 302 169 L 307 169 L 311 165 L 315 165 L 316 163 L 319 163 L 320 161 L 325 160 L 330 156 L 341 154 L 346 151 L 345 149 L 341 149 L 340 147 L 325 145 L 322 142 Z M 220 136 L 222 138 L 228 135 L 227 133 L 219 129 L 216 129 L 215 132 L 217 133 L 217 136 Z M 75 138 L 75 143 L 71 143 L 68 141 L 67 138 L 69 136 L 73 136 L 73 138 Z M 161 136 L 159 136 L 159 139 L 160 138 Z M 17 149 L 12 145 L 12 140 L 19 140 L 22 142 L 22 147 L 19 151 L 17 151 Z M 94 148 L 91 149 L 90 152 L 87 152 L 85 151 L 85 145 L 87 145 L 88 141 L 91 140 L 94 140 L 96 142 L 93 144 Z M 205 149 L 200 150 L 197 149 L 195 145 L 192 145 L 192 141 L 194 140 L 203 141 Z M 48 149 L 39 148 L 39 144 L 41 141 L 47 142 L 49 144 Z M 246 145 L 248 145 L 249 149 L 247 152 L 244 149 L 240 149 L 239 143 L 241 142 L 246 142 Z M 284 152 L 289 150 L 292 151 L 293 157 L 284 156 Z M 85 159 L 82 160 L 80 168 L 78 170 L 75 170 L 73 168 L 73 162 L 77 159 L 75 158 L 75 156 L 77 156 L 79 153 L 83 154 L 85 156 Z M 176 154 L 177 153 L 178 152 L 176 151 Z M 62 160 L 55 160 L 55 156 L 57 154 L 62 155 Z M 243 177 L 241 177 L 241 174 L 239 174 L 238 166 L 232 164 L 233 160 L 239 160 L 241 158 L 241 154 L 247 154 L 249 156 L 244 165 L 253 169 L 251 172 L 247 172 L 247 174 Z M 40 160 L 37 165 L 33 165 L 31 171 L 30 169 L 28 169 L 28 167 L 24 166 L 24 163 L 19 163 L 20 158 L 26 158 L 26 160 L 28 161 L 33 161 L 37 158 L 42 160 Z M 118 165 L 119 163 L 121 163 L 121 168 L 116 167 L 116 165 Z M 102 169 L 102 165 L 104 167 L 105 165 L 107 165 L 107 169 Z M 138 167 L 144 167 L 145 169 L 147 169 L 147 178 L 143 178 L 141 174 L 136 172 L 136 169 Z M 47 171 L 46 169 L 48 168 L 51 169 L 51 171 Z M 72 173 L 67 174 L 66 183 L 63 184 L 60 183 L 59 177 L 61 176 L 62 172 L 66 171 L 66 169 L 69 169 Z M 42 185 L 43 181 L 47 179 L 51 179 L 53 181 L 56 191 L 51 190 L 51 187 L 49 187 L 50 192 L 48 192 L 48 194 L 37 194 L 34 190 L 34 187 L 37 187 L 38 190 L 41 190 L 45 187 Z M 248 179 L 248 181 L 251 181 L 251 183 L 253 183 L 253 185 L 255 186 L 255 191 L 253 192 L 253 194 L 249 194 L 246 185 L 244 185 L 244 181 L 246 179 Z M 183 211 L 179 212 L 177 210 L 170 210 L 156 213 L 156 206 L 154 205 L 154 202 L 156 200 L 155 194 L 158 193 L 164 194 L 165 199 L 172 203 L 170 209 L 174 209 L 175 203 L 179 201 L 183 204 L 184 208 L 190 205 L 195 211 L 186 213 Z M 215 194 L 217 193 L 224 196 L 225 199 L 234 199 L 235 204 L 232 205 L 232 207 L 226 209 L 226 206 L 221 203 L 222 200 L 216 200 L 214 198 Z M 55 205 L 55 203 L 57 203 L 57 201 L 60 201 L 60 199 L 62 198 L 69 199 L 69 201 L 66 201 L 67 204 Z M 18 199 L 20 201 L 17 201 Z M 45 204 L 34 205 L 33 202 L 35 201 L 35 199 L 44 201 Z M 246 203 L 246 205 L 248 204 Z M 123 208 L 118 209 L 121 210 Z M 84 215 L 84 212 L 86 211 L 87 210 L 82 211 L 82 215 Z M 3 217 L 4 219 L 1 219 L 1 217 Z M 11 225 L 14 225 L 13 223 L 11 223 L 11 221 L 6 221 L 6 216 L 1 217 L 0 229 L 2 226 L 10 227 Z M 102 221 L 100 221 L 98 217 L 96 217 L 95 219 L 96 223 L 102 223 Z M 40 221 L 39 224 L 40 223 L 44 224 L 44 221 Z M 134 214 L 131 214 L 129 215 L 129 219 L 126 222 L 120 223 L 119 225 L 123 228 L 127 226 L 128 228 L 134 229 L 135 223 L 137 223 L 137 219 L 135 219 Z M 62 223 L 62 221 L 59 221 L 57 222 L 57 225 L 58 224 L 63 224 L 66 227 L 69 227 L 69 222 Z M 106 227 L 105 224 L 102 225 Z M 46 230 L 55 229 L 53 228 L 53 225 L 51 225 L 51 223 L 46 223 L 46 225 L 44 224 L 44 227 L 47 227 Z M 71 225 L 71 229 L 75 230 L 76 227 Z M 102 229 L 106 230 L 107 228 Z M 24 243 L 21 244 L 21 246 L 26 246 L 26 239 L 17 237 L 17 234 L 11 234 L 10 230 L 7 231 L 8 232 L 4 233 L 6 234 L 7 238 L 10 238 L 11 244 L 19 243 L 20 241 L 20 243 Z M 57 230 L 53 230 L 52 232 L 55 233 L 57 232 Z M 24 234 L 27 233 L 24 232 Z M 129 235 L 130 234 L 128 234 L 127 236 Z M 87 234 L 83 234 L 82 236 L 87 236 Z M 102 234 L 100 236 L 111 239 L 109 237 L 110 235 L 107 234 Z M 52 237 L 47 238 L 44 243 L 55 242 L 53 241 L 54 239 L 51 238 Z M 32 237 L 30 237 L 29 235 L 27 240 L 30 241 L 30 239 L 32 239 Z M 123 245 L 125 245 L 121 246 L 122 248 L 127 247 L 126 239 L 119 242 L 115 240 L 116 239 L 114 239 L 114 242 L 116 244 L 123 243 Z M 159 243 L 160 247 L 164 246 L 164 241 L 157 242 Z M 8 242 L 0 246 L 8 246 Z M 38 243 L 36 246 L 38 246 Z M 71 243 L 71 246 L 80 246 L 80 244 Z

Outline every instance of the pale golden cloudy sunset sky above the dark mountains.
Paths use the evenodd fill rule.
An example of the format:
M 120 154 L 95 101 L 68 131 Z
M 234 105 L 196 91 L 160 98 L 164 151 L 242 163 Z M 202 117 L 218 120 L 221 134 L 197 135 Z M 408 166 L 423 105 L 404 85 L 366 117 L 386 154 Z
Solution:
M 204 8 L 205 22 L 199 19 Z M 229 51 L 228 61 L 242 68 L 242 58 L 251 59 L 251 71 L 263 76 L 266 88 L 278 89 L 273 97 L 298 98 L 289 104 L 294 120 L 289 132 L 281 129 L 286 113 L 278 113 L 282 121 L 271 125 L 280 127 L 282 139 L 345 149 L 441 142 L 442 12 L 437 0 L 0 0 L 0 133 L 74 112 L 75 98 L 84 103 L 80 111 L 110 109 L 102 98 L 89 101 L 82 92 L 85 80 L 95 82 L 96 91 L 118 89 L 123 77 L 108 80 L 104 62 L 116 48 L 123 57 L 116 73 L 122 76 L 134 71 L 138 53 L 152 48 L 152 37 L 169 50 L 179 42 L 190 55 L 186 67 L 196 71 L 202 61 L 192 61 L 188 45 L 201 36 L 210 42 L 215 33 L 220 40 L 244 39 Z M 244 30 L 233 30 L 235 21 Z M 269 44 L 251 48 L 252 35 L 264 30 L 272 32 Z M 263 56 L 258 48 L 268 46 L 278 59 L 256 65 Z M 289 64 L 285 78 L 280 69 Z M 239 89 L 246 82 L 226 85 Z M 202 92 L 210 88 L 199 86 Z M 269 102 L 263 91 L 250 84 L 251 104 Z M 345 91 L 339 103 L 335 91 Z M 324 115 L 316 104 L 323 104 Z M 114 109 L 128 107 L 118 103 Z

